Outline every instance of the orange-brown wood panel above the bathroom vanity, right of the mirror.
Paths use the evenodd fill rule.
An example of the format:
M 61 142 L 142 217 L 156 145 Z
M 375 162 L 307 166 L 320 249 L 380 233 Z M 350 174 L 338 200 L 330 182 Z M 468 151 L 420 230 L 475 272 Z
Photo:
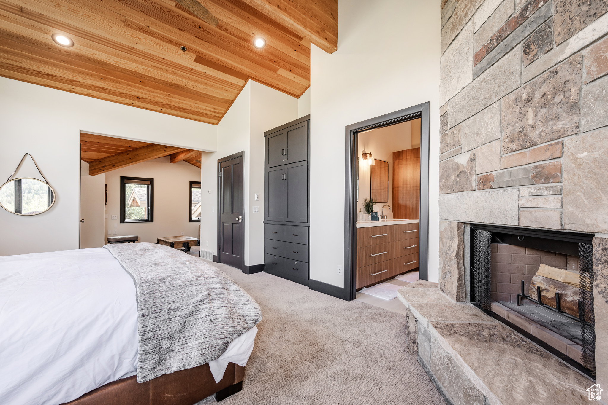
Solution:
M 420 148 L 393 152 L 393 218 L 420 219 Z

